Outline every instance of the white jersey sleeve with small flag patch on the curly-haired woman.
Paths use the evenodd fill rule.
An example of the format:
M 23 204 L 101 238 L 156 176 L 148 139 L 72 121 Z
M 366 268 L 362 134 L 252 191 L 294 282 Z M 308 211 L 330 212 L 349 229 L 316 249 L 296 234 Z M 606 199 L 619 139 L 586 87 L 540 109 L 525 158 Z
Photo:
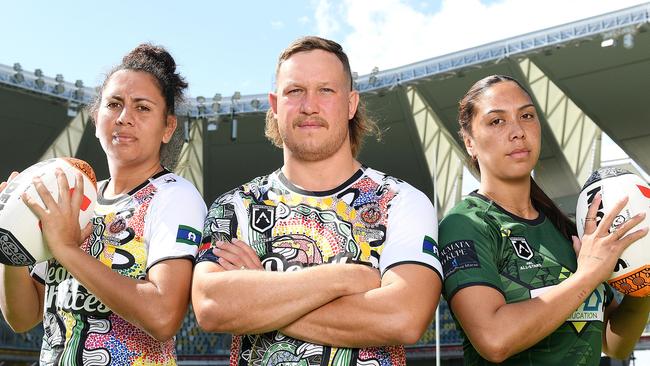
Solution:
M 165 184 L 168 186 L 160 187 L 146 217 L 147 270 L 167 259 L 194 260 L 201 243 L 206 215 L 203 198 L 184 180 Z

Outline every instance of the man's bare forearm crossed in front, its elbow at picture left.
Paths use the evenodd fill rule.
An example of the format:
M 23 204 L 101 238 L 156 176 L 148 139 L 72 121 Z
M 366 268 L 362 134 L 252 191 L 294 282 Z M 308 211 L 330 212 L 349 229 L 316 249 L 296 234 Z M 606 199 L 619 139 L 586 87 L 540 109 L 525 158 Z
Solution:
M 206 271 L 210 266 L 213 270 Z M 206 263 L 195 270 L 192 302 L 199 324 L 207 331 L 264 333 L 280 329 L 338 297 L 378 286 L 379 274 L 362 265 L 328 264 L 297 272 L 265 272 L 224 271 Z

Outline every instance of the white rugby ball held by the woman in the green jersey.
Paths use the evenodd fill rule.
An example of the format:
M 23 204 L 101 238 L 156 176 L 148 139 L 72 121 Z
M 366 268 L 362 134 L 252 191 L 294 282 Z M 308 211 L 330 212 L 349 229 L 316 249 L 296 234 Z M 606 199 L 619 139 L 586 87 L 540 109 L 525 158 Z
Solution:
M 650 225 L 648 183 L 624 169 L 601 168 L 587 179 L 578 197 L 576 225 L 580 237 L 584 233 L 587 210 L 598 192 L 601 192 L 602 201 L 596 214 L 597 224 L 621 198 L 628 196 L 627 205 L 616 216 L 609 231 L 640 212 L 645 212 L 646 218 L 631 231 Z M 637 240 L 623 252 L 607 282 L 626 295 L 650 296 L 650 236 Z

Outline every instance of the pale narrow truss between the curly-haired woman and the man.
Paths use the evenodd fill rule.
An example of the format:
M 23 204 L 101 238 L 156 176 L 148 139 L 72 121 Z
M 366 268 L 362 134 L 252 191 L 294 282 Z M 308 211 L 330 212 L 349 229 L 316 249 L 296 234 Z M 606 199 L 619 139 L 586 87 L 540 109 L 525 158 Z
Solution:
M 202 118 L 190 118 L 188 138 L 176 165 L 176 174 L 189 180 L 203 196 L 203 124 Z

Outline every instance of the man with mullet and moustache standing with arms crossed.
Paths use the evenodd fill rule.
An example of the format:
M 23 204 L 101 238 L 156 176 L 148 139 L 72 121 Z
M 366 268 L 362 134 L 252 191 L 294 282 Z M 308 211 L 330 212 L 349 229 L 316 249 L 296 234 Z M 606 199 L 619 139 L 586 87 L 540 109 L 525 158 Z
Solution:
M 231 365 L 405 365 L 440 297 L 435 209 L 356 160 L 377 127 L 339 44 L 294 41 L 276 80 L 266 135 L 284 165 L 210 208 L 199 325 L 236 334 Z

